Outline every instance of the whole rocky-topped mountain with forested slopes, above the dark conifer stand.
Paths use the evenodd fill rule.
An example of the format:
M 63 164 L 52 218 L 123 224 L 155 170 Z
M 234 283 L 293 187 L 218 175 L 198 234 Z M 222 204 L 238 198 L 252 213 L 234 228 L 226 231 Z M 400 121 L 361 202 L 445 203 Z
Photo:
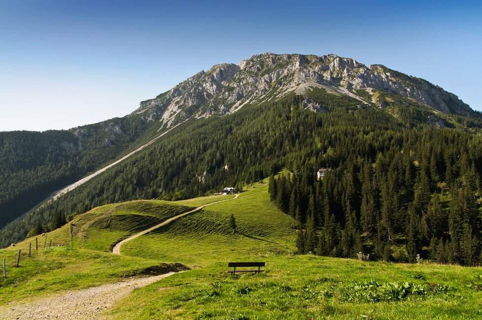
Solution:
M 6 226 L 0 245 L 29 231 L 53 228 L 54 212 L 69 218 L 107 203 L 206 195 L 225 186 L 240 188 L 282 168 L 314 172 L 318 167 L 360 167 L 359 159 L 375 165 L 380 156 L 391 159 L 400 152 L 410 154 L 404 165 L 413 161 L 416 180 L 426 156 L 435 159 L 438 177 L 427 181 L 430 194 L 438 184 L 445 191 L 453 189 L 451 179 L 460 178 L 456 161 L 462 154 L 474 167 L 472 185 L 481 173 L 480 114 L 453 94 L 423 79 L 335 55 L 263 54 L 200 72 L 123 118 L 69 131 L 0 133 L 0 159 L 7 159 L 0 171 L 2 223 L 176 123 L 181 124 L 142 152 Z M 446 155 L 436 143 L 448 142 L 431 138 L 438 133 L 475 151 L 455 149 Z M 394 141 L 398 144 L 392 145 Z M 421 142 L 428 151 L 415 156 Z M 447 180 L 447 172 L 455 178 Z M 407 192 L 398 195 L 397 212 L 407 211 L 413 202 L 406 189 L 415 180 L 400 181 L 405 189 L 383 191 Z M 459 183 L 455 189 L 462 187 Z M 361 210 L 358 203 L 351 205 Z M 345 206 L 346 201 L 339 204 Z

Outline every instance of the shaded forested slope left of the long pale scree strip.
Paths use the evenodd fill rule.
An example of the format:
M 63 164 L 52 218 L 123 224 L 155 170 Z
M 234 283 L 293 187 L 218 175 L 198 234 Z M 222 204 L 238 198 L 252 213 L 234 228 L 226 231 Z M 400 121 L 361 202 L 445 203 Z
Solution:
M 0 228 L 156 134 L 161 123 L 115 118 L 71 130 L 0 132 Z

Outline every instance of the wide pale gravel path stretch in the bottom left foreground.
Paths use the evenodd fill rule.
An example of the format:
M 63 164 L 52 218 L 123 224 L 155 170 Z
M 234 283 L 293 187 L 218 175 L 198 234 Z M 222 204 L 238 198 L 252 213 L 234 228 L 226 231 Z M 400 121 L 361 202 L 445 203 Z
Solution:
M 116 284 L 104 284 L 84 290 L 67 291 L 62 295 L 36 300 L 31 303 L 11 302 L 0 307 L 0 318 L 5 320 L 100 320 L 101 313 L 112 307 L 132 290 L 169 277 L 175 272 L 147 278 L 133 278 Z

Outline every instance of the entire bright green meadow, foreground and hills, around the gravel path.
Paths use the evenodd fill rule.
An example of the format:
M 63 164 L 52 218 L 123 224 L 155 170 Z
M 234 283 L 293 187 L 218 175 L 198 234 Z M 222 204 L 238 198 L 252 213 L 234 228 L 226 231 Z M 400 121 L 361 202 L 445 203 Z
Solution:
M 169 217 L 233 196 L 178 202 L 133 201 L 79 215 L 47 234 L 0 250 L 7 278 L 0 305 L 120 281 L 149 267 L 181 262 L 192 270 L 134 290 L 109 319 L 482 319 L 482 268 L 392 264 L 293 255 L 293 220 L 269 201 L 266 183 L 209 205 L 109 251 Z M 231 214 L 237 230 L 229 227 Z M 49 241 L 47 241 L 47 246 Z M 20 267 L 16 254 L 22 250 Z M 266 261 L 259 275 L 225 273 L 228 261 Z M 164 268 L 171 268 L 164 265 Z M 0 308 L 1 311 L 1 308 Z M 1 317 L 0 317 L 1 318 Z

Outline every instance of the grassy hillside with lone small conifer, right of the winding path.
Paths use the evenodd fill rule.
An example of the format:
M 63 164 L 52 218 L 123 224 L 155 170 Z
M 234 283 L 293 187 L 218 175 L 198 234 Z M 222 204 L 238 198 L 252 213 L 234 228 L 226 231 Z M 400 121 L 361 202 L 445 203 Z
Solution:
M 228 225 L 231 213 L 236 232 Z M 264 183 L 238 199 L 213 204 L 134 239 L 122 253 L 201 266 L 246 255 L 287 253 L 294 250 L 292 224 L 291 217 L 270 203 Z

